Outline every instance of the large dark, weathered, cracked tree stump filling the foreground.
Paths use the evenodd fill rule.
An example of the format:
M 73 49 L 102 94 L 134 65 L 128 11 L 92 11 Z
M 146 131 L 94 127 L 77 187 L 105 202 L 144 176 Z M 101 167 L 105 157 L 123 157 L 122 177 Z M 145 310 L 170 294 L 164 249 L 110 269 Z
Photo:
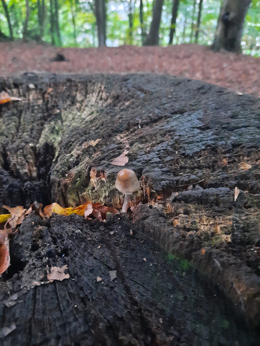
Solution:
M 110 161 L 128 146 L 141 183 L 133 213 L 106 223 L 23 221 L 0 279 L 1 345 L 258 345 L 259 101 L 153 74 L 0 85 L 22 99 L 0 106 L 0 206 L 120 208 Z M 49 282 L 64 265 L 69 279 Z

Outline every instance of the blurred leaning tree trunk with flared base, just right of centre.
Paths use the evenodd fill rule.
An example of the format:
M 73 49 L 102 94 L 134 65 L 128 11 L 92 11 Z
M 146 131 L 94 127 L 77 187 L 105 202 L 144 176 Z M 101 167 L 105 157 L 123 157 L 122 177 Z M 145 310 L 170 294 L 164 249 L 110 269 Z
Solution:
M 163 9 L 163 0 L 154 0 L 153 19 L 151 21 L 150 31 L 146 35 L 145 46 L 158 46 L 159 29 Z

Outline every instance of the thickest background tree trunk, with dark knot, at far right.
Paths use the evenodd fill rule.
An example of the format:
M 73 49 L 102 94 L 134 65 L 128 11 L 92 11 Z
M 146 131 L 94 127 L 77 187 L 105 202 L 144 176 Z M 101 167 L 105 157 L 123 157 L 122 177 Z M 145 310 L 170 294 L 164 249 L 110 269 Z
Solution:
M 241 53 L 241 38 L 251 0 L 225 0 L 220 11 L 214 50 Z

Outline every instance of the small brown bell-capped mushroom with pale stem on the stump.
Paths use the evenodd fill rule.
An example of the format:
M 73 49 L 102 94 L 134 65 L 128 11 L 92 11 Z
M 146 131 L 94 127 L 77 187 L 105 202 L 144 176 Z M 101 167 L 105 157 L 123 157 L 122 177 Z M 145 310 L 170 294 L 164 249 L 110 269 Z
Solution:
M 124 193 L 122 212 L 126 213 L 128 209 L 128 202 L 130 201 L 130 194 L 140 189 L 140 183 L 137 179 L 136 173 L 132 170 L 128 170 L 127 168 L 119 171 L 115 182 L 115 188 Z

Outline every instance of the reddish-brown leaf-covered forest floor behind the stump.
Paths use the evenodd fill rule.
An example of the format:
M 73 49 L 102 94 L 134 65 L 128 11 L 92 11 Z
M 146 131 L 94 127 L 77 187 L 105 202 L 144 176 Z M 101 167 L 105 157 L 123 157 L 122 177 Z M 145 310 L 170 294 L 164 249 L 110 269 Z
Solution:
M 223 86 L 237 93 L 260 96 L 259 59 L 214 53 L 209 47 L 182 44 L 171 47 L 57 48 L 35 43 L 1 43 L 0 76 L 34 71 L 51 73 L 171 74 Z M 66 61 L 53 61 L 57 54 Z

